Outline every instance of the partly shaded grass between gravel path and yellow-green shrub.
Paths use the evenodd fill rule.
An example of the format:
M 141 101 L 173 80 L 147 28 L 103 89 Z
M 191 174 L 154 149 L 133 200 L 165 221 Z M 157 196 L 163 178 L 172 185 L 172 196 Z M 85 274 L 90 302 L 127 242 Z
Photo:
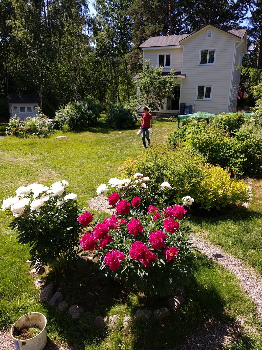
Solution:
M 252 180 L 253 201 L 223 217 L 193 217 L 190 225 L 202 237 L 246 261 L 262 274 L 262 180 Z

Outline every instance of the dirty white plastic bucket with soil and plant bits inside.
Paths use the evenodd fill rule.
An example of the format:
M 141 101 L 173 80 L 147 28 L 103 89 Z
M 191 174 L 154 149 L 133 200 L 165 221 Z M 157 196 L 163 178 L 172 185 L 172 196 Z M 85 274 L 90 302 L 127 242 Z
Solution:
M 13 336 L 14 328 L 30 328 L 30 325 L 37 325 L 42 331 L 31 339 L 16 339 Z M 11 336 L 16 350 L 43 350 L 46 345 L 46 317 L 39 312 L 31 312 L 21 316 L 11 328 Z

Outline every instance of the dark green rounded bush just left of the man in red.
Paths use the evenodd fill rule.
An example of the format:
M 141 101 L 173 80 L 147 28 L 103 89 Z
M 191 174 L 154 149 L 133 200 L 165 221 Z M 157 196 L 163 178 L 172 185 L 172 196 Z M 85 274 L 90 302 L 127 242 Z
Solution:
M 123 103 L 111 105 L 105 118 L 105 124 L 115 129 L 129 129 L 137 123 L 137 116 Z

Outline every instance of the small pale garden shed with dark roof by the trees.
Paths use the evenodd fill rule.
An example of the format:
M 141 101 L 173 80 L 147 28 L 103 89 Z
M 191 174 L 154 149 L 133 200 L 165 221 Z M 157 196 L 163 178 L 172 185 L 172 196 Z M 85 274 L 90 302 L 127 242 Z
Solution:
M 39 97 L 35 95 L 8 94 L 10 118 L 15 114 L 21 119 L 38 114 L 35 108 L 39 106 Z

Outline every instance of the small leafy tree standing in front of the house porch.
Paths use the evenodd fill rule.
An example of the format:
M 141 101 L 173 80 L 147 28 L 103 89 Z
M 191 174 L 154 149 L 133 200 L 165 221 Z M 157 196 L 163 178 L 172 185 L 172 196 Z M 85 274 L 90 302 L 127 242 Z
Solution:
M 146 105 L 150 111 L 159 111 L 166 98 L 172 98 L 177 86 L 175 70 L 171 69 L 168 76 L 161 76 L 163 69 L 151 65 L 150 59 L 145 62 L 141 73 L 136 80 L 140 93 L 137 96 L 136 105 Z

